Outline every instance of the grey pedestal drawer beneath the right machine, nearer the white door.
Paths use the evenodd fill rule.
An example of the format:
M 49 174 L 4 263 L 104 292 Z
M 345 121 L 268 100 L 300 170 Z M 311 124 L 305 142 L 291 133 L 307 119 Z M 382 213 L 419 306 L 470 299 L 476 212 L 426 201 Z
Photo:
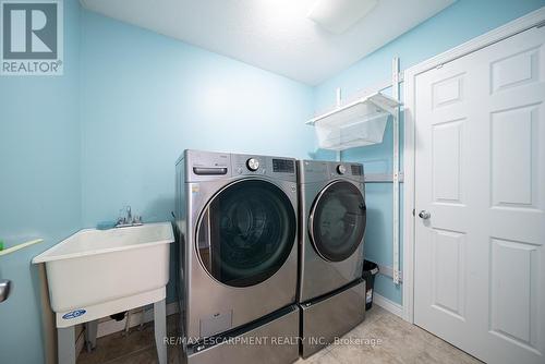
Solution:
M 365 281 L 301 304 L 302 356 L 308 357 L 365 318 Z

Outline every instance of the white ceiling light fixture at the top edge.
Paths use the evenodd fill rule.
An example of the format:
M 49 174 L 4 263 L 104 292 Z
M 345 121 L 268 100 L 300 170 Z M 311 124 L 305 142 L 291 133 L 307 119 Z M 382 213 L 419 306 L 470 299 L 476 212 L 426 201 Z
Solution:
M 318 0 L 306 17 L 334 34 L 342 34 L 367 15 L 378 0 Z

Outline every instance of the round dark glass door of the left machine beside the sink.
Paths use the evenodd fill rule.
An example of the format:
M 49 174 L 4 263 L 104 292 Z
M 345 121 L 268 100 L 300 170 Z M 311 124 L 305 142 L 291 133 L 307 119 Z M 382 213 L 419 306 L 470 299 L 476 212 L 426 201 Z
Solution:
M 197 252 L 215 279 L 249 287 L 280 269 L 295 233 L 295 213 L 288 196 L 270 182 L 245 180 L 208 203 L 197 227 Z

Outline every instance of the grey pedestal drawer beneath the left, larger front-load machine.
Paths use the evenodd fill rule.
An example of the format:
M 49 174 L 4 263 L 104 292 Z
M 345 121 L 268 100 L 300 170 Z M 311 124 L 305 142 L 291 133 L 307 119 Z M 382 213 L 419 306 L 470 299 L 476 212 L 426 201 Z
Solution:
M 187 364 L 289 364 L 299 360 L 299 307 L 282 308 L 229 336 L 187 350 Z

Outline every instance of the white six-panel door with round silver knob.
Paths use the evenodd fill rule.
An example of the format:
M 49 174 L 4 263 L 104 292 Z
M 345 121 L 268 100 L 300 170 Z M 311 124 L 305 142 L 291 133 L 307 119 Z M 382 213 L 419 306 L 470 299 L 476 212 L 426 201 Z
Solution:
M 545 363 L 544 43 L 416 77 L 414 323 L 488 363 Z

